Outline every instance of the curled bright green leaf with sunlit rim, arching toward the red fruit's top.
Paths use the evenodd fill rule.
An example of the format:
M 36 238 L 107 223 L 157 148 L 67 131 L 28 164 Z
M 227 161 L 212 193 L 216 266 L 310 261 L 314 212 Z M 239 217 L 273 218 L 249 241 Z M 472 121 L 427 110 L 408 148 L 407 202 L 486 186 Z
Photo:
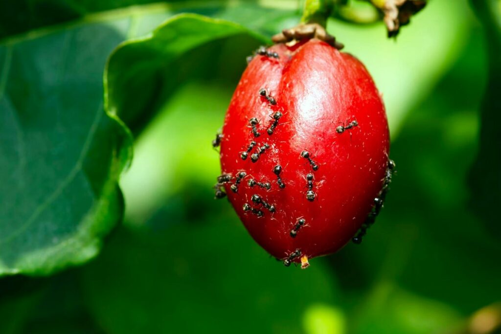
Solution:
M 161 106 L 183 81 L 211 68 L 214 58 L 207 51 L 194 49 L 233 36 L 250 37 L 252 46 L 258 41 L 267 42 L 243 26 L 183 14 L 146 38 L 122 44 L 111 55 L 105 72 L 108 110 L 136 130 L 134 125 L 141 125 L 141 119 L 148 120 L 156 112 L 155 106 Z

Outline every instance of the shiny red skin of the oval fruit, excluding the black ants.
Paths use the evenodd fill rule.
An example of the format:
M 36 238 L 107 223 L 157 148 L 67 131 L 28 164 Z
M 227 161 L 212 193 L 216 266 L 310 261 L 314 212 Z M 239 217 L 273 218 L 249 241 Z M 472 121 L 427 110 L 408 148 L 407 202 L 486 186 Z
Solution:
M 296 249 L 308 258 L 333 253 L 351 240 L 382 188 L 389 154 L 384 105 L 364 65 L 325 42 L 279 44 L 269 51 L 280 58 L 256 56 L 248 64 L 224 119 L 221 169 L 233 176 L 224 187 L 250 235 L 273 256 L 284 259 Z M 260 96 L 262 88 L 276 99 L 276 105 Z M 275 133 L 268 135 L 275 111 L 283 117 Z M 258 138 L 249 127 L 252 117 L 260 120 Z M 359 125 L 336 132 L 353 120 Z M 250 154 L 245 161 L 240 158 L 253 140 L 256 148 L 264 143 L 271 146 L 256 163 Z M 317 171 L 301 157 L 303 150 L 319 165 Z M 283 167 L 284 189 L 278 187 L 273 173 L 278 164 Z M 239 171 L 247 176 L 233 193 L 230 185 Z M 308 173 L 314 174 L 313 202 L 306 199 Z M 272 188 L 250 188 L 250 178 L 271 182 Z M 274 204 L 276 212 L 254 204 L 253 194 Z M 245 212 L 244 203 L 261 209 L 264 216 Z M 306 225 L 292 238 L 290 231 L 301 217 Z

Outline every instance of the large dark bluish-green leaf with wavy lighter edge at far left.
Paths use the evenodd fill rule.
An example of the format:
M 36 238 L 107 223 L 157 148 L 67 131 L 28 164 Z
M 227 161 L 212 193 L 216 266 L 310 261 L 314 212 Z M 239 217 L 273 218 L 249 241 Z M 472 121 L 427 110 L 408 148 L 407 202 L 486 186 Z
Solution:
M 131 139 L 102 100 L 121 40 L 94 24 L 0 46 L 0 275 L 85 262 L 121 219 Z

